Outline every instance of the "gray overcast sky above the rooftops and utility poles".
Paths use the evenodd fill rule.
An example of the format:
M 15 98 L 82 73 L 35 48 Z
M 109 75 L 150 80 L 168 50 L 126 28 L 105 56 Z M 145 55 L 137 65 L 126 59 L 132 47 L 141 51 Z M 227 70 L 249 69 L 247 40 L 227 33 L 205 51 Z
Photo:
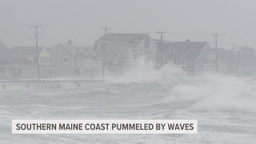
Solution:
M 110 26 L 112 32 L 167 31 L 165 38 L 209 41 L 223 34 L 220 46 L 256 46 L 254 0 L 0 0 L 0 40 L 8 46 L 34 45 L 32 25 L 39 30 L 39 44 L 53 46 L 71 39 L 92 45 Z

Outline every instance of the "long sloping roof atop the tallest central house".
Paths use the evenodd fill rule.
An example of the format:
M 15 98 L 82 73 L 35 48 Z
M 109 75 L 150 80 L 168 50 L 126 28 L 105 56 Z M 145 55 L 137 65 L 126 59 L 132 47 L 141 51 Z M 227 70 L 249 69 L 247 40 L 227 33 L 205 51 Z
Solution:
M 146 38 L 148 34 L 116 34 L 108 33 L 104 34 L 101 38 L 98 38 L 96 42 L 126 42 L 126 43 L 138 43 Z

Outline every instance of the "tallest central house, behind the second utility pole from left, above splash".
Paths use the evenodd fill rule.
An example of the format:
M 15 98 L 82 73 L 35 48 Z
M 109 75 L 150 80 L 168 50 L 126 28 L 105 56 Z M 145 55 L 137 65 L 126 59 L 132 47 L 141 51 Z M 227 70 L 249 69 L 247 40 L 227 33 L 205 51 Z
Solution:
M 93 50 L 98 61 L 105 59 L 107 70 L 120 73 L 133 68 L 142 56 L 153 62 L 155 47 L 149 34 L 110 33 L 98 38 Z

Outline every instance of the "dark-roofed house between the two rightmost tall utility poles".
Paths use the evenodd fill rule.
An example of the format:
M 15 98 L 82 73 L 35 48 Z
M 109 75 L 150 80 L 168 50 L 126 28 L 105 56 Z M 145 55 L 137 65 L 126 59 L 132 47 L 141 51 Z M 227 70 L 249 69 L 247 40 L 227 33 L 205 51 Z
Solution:
M 172 63 L 181 66 L 188 74 L 213 70 L 210 46 L 207 42 L 158 42 L 158 67 Z

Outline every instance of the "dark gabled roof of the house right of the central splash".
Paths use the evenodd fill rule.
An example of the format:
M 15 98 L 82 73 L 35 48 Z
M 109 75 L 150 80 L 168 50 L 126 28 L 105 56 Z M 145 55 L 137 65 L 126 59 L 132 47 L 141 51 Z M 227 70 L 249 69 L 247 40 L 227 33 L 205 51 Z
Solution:
M 172 48 L 178 55 L 186 55 L 187 60 L 195 61 L 207 42 L 162 42 L 159 48 Z

